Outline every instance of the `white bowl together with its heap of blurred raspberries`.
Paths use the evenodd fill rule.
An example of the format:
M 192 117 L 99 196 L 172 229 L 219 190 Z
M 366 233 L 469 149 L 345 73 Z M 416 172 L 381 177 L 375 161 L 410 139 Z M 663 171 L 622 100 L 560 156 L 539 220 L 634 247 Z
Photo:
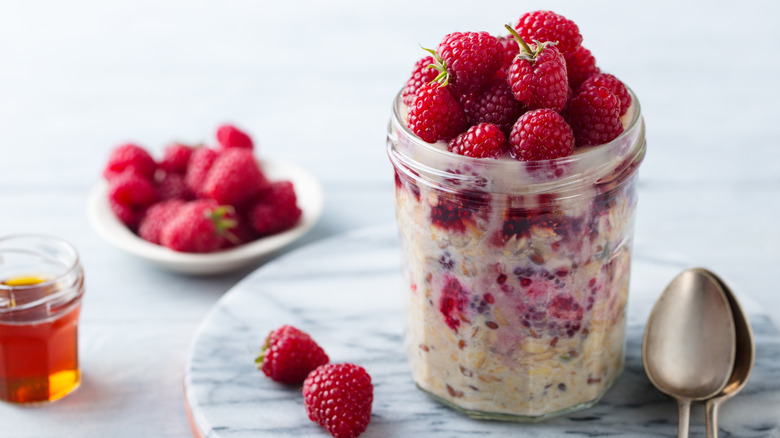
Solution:
M 217 145 L 172 143 L 155 159 L 142 146 L 109 154 L 88 214 L 107 242 L 165 269 L 219 274 L 259 262 L 309 231 L 319 183 L 290 163 L 258 158 L 232 125 Z

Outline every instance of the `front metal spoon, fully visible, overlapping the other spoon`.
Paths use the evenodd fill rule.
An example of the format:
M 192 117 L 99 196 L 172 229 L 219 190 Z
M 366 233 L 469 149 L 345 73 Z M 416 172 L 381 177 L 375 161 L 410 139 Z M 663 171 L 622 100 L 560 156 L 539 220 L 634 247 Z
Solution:
M 686 269 L 658 298 L 642 339 L 647 377 L 677 399 L 678 438 L 688 436 L 691 402 L 720 393 L 728 383 L 735 351 L 725 293 L 703 269 Z

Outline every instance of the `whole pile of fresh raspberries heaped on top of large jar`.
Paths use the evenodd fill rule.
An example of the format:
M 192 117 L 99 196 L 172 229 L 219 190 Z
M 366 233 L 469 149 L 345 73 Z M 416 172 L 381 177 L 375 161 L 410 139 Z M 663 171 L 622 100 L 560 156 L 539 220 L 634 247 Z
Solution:
M 623 132 L 631 95 L 599 69 L 573 21 L 529 12 L 502 33 L 453 32 L 425 49 L 402 92 L 421 139 L 469 157 L 533 161 Z

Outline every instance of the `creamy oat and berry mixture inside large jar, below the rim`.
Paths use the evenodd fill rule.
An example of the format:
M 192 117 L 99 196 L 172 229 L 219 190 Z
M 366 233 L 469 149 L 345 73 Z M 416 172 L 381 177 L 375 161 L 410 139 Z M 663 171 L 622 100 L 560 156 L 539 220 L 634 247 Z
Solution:
M 623 366 L 633 184 L 566 204 L 399 176 L 416 383 L 462 409 L 520 417 L 598 400 Z

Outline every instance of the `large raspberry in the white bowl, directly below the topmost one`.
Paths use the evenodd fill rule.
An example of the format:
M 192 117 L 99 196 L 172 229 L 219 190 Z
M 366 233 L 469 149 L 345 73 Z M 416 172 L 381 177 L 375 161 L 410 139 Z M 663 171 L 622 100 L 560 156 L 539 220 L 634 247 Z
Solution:
M 203 182 L 203 195 L 220 204 L 237 206 L 268 186 L 251 149 L 229 148 L 214 161 Z

